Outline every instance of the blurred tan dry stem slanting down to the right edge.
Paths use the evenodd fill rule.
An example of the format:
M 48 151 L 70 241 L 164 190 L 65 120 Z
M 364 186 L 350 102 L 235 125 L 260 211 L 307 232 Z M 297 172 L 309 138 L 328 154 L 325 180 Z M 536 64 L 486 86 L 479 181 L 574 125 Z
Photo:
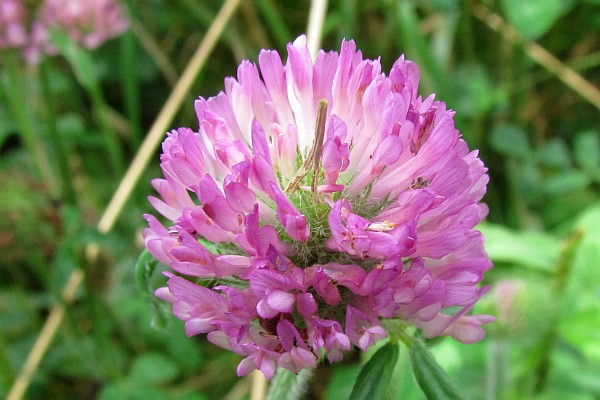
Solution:
M 524 38 L 515 28 L 504 21 L 502 17 L 491 12 L 484 6 L 480 4 L 474 5 L 473 14 L 494 31 L 500 33 L 507 41 L 513 44 L 521 44 L 525 53 L 533 61 L 555 74 L 565 85 L 600 110 L 600 90 L 574 69 L 554 57 L 554 55 L 539 44 Z

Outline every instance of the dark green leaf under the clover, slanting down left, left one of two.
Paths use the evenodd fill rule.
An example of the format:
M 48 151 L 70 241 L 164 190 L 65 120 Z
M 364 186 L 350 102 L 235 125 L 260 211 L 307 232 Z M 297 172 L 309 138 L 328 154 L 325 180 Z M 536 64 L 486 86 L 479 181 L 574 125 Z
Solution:
M 360 371 L 351 399 L 383 399 L 398 361 L 398 343 L 388 342 L 377 350 Z

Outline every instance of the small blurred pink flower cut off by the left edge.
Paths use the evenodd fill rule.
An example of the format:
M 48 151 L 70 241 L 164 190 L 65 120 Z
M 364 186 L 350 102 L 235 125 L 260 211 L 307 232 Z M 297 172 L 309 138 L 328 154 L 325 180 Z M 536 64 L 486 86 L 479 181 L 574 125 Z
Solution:
M 27 44 L 25 11 L 21 0 L 0 0 L 0 50 Z

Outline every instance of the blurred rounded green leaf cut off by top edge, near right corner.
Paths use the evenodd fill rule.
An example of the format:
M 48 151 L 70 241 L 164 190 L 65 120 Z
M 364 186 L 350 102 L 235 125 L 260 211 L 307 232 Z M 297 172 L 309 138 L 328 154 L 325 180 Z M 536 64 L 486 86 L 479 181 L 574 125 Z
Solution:
M 546 33 L 574 4 L 572 0 L 502 0 L 508 21 L 523 36 L 535 39 Z

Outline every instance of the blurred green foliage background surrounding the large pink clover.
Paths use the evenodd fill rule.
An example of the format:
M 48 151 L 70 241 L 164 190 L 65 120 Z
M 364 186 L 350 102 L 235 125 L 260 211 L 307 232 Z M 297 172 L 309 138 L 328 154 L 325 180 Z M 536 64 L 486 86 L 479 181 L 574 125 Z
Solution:
M 81 269 L 25 398 L 249 398 L 239 357 L 186 338 L 150 296 L 164 277 L 150 291 L 136 282 L 158 153 L 115 228 L 95 228 L 222 2 L 123 5 L 130 29 L 96 51 L 65 44 L 38 68 L 0 53 L 0 397 Z M 171 128 L 195 128 L 194 98 L 222 90 L 240 60 L 285 53 L 309 6 L 242 0 Z M 498 321 L 474 345 L 431 343 L 439 363 L 469 399 L 600 399 L 600 1 L 330 1 L 322 47 L 342 38 L 384 70 L 416 61 L 421 93 L 456 110 L 489 168 L 494 289 L 476 311 Z M 320 366 L 307 398 L 346 399 L 360 361 Z M 408 362 L 401 353 L 390 399 L 423 398 Z

